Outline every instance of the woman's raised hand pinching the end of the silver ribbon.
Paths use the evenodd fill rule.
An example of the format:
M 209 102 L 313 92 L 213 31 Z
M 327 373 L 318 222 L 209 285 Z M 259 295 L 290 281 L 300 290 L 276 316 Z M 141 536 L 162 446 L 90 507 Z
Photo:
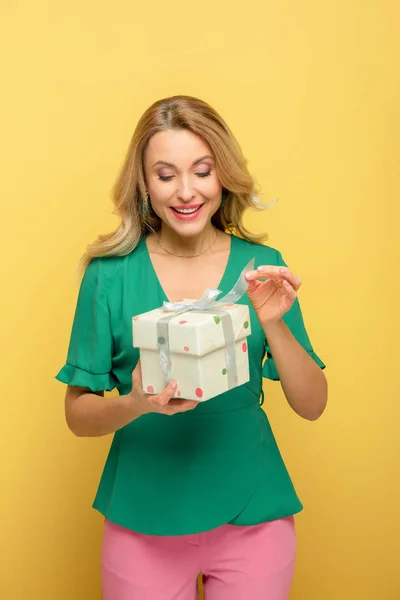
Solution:
M 262 327 L 278 322 L 293 306 L 300 277 L 287 267 L 262 265 L 246 273 L 247 295 Z M 260 281 L 261 280 L 261 281 Z

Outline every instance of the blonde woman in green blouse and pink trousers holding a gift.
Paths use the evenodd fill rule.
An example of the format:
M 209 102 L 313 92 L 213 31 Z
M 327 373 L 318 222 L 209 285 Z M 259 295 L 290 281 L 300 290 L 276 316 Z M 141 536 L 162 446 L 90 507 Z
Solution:
M 115 186 L 121 225 L 84 257 L 57 378 L 76 435 L 115 433 L 94 501 L 105 516 L 105 600 L 194 600 L 200 572 L 207 600 L 288 597 L 302 505 L 260 408 L 262 377 L 280 380 L 309 420 L 322 414 L 327 384 L 300 278 L 243 226 L 244 210 L 260 208 L 254 189 L 210 106 L 161 100 L 140 119 Z M 248 384 L 202 403 L 174 398 L 176 382 L 143 393 L 133 315 L 208 287 L 226 293 L 253 257 L 240 300 L 251 315 Z M 119 396 L 105 399 L 114 387 Z

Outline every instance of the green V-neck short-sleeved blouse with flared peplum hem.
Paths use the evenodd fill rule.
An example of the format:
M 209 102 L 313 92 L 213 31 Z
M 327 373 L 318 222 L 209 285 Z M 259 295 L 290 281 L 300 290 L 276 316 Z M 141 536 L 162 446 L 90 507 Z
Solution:
M 253 257 L 256 266 L 286 266 L 277 250 L 232 236 L 219 289 L 228 292 Z M 67 362 L 57 379 L 93 392 L 129 393 L 139 358 L 132 317 L 165 300 L 145 238 L 127 256 L 94 259 L 81 283 Z M 262 377 L 279 380 L 279 374 L 247 295 L 240 303 L 250 308 L 250 381 L 194 411 L 143 415 L 117 431 L 93 504 L 110 521 L 144 534 L 185 535 L 225 523 L 255 525 L 302 509 L 261 408 Z M 324 368 L 298 300 L 283 320 Z

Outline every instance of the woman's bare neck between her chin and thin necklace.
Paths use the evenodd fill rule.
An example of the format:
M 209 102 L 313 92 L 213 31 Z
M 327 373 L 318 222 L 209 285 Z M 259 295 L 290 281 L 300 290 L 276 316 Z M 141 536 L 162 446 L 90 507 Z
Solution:
M 157 234 L 158 240 L 165 250 L 187 257 L 205 253 L 215 242 L 217 235 L 218 232 L 211 223 L 196 236 L 183 237 L 164 225 Z

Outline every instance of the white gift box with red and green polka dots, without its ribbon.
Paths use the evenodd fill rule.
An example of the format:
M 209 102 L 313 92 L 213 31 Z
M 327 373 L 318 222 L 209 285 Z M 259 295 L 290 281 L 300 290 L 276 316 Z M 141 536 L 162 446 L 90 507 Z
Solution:
M 193 300 L 184 300 L 190 305 Z M 221 314 L 229 313 L 229 317 Z M 170 378 L 178 383 L 175 397 L 204 402 L 249 381 L 247 337 L 251 333 L 249 308 L 242 304 L 224 304 L 200 312 L 189 310 L 179 314 L 157 308 L 133 317 L 133 345 L 140 349 L 143 391 L 158 394 L 166 387 L 161 367 L 158 322 L 168 322 Z M 226 319 L 233 326 L 230 357 L 227 355 Z M 224 319 L 224 323 L 222 322 Z M 230 329 L 231 330 L 231 329 Z M 228 364 L 227 364 L 228 363 Z M 236 363 L 236 365 L 235 365 Z M 230 373 L 228 375 L 228 369 Z

